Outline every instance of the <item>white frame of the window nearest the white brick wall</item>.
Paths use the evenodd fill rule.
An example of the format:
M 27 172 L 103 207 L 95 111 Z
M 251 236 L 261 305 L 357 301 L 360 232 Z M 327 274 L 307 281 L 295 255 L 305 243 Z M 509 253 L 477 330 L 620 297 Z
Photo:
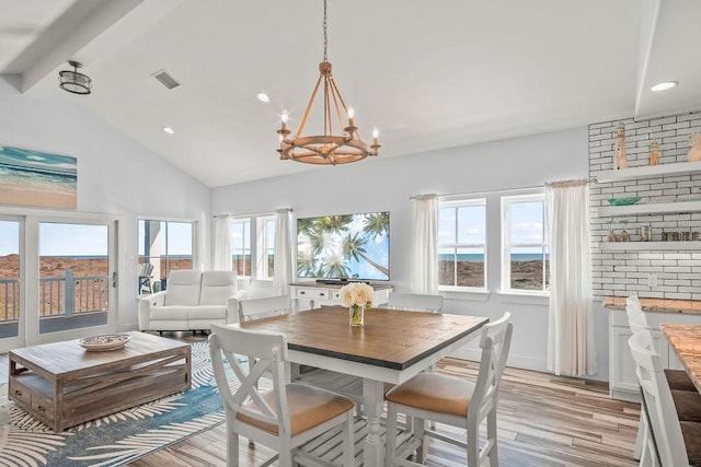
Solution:
M 550 296 L 550 289 L 545 288 L 543 290 L 526 290 L 526 289 L 513 289 L 512 288 L 512 255 L 510 252 L 515 247 L 540 247 L 543 252 L 550 253 L 550 244 L 548 236 L 548 218 L 545 214 L 545 194 L 544 191 L 538 191 L 527 195 L 509 195 L 502 196 L 502 258 L 501 258 L 501 269 L 502 269 L 502 287 L 501 293 L 510 294 L 510 295 L 535 295 L 535 296 Z M 542 243 L 517 243 L 512 244 L 509 242 L 509 232 L 510 232 L 510 206 L 517 202 L 532 202 L 532 201 L 541 201 L 543 203 L 543 242 Z M 547 269 L 543 265 L 543 287 L 545 284 L 545 275 L 549 269 Z

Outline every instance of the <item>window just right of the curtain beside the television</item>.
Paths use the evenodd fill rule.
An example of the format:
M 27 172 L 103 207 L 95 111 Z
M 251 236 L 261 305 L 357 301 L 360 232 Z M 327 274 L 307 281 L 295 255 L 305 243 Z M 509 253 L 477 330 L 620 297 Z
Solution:
M 486 289 L 484 199 L 441 202 L 438 209 L 438 285 Z

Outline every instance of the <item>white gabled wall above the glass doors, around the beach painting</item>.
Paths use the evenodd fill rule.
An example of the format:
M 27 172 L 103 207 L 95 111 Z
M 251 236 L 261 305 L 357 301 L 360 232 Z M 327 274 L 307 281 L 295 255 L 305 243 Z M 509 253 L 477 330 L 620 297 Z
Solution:
M 137 218 L 198 221 L 198 262 L 207 267 L 210 190 L 71 102 L 90 96 L 34 100 L 18 84 L 16 77 L 0 77 L 0 144 L 78 159 L 78 211 L 119 217 L 118 327 L 136 329 Z

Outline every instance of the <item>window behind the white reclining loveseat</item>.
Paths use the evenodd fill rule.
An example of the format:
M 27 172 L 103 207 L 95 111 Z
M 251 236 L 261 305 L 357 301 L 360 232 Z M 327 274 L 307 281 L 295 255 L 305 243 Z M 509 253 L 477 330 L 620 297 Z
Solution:
M 194 222 L 139 219 L 139 262 L 153 265 L 157 281 L 172 270 L 195 269 L 194 245 Z

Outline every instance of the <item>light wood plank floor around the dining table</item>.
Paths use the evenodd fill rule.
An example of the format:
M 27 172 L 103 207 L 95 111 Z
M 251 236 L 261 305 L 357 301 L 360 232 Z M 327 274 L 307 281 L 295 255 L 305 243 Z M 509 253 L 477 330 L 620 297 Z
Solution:
M 203 337 L 183 338 L 192 341 Z M 437 371 L 473 378 L 476 364 L 445 359 Z M 502 467 L 637 465 L 632 452 L 640 405 L 610 399 L 606 383 L 507 369 L 499 396 Z M 240 465 L 258 466 L 272 454 L 265 446 L 249 448 L 242 441 Z M 466 455 L 462 450 L 432 440 L 426 462 L 436 467 L 462 467 Z M 225 424 L 161 450 L 131 466 L 226 466 Z

